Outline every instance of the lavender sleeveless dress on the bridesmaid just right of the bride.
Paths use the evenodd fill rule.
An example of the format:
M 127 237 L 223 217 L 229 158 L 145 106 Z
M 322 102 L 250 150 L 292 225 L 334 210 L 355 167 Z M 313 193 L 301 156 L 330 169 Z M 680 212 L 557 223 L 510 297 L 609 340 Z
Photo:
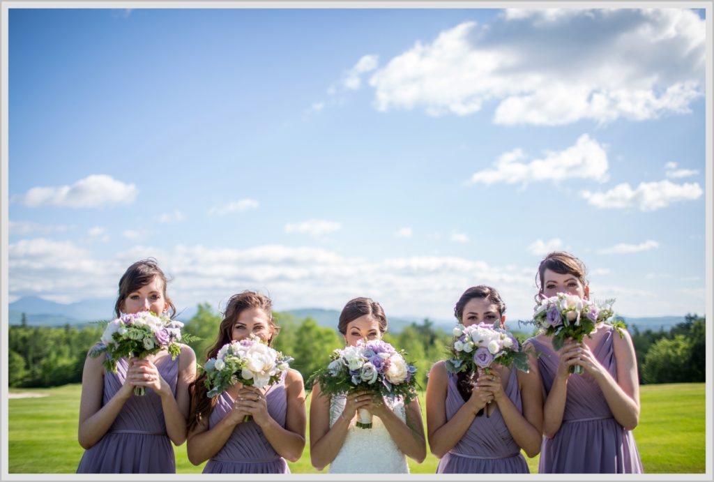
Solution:
M 456 385 L 456 375 L 448 372 L 446 419 L 451 420 L 464 402 Z M 504 393 L 523 413 L 521 391 L 518 390 L 516 369 L 511 370 Z M 513 440 L 498 406 L 491 416 L 480 415 L 458 443 L 448 451 L 436 468 L 436 473 L 529 473 L 521 447 Z

